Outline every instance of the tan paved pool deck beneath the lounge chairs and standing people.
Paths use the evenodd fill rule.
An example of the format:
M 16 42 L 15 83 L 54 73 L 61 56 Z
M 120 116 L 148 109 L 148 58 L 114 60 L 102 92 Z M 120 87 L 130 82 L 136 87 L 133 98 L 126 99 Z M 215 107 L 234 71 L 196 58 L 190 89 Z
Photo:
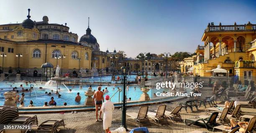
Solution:
M 204 91 L 204 92 L 208 92 L 208 91 Z M 185 100 L 183 99 L 177 102 L 166 103 L 167 110 L 171 111 L 174 107 L 178 106 L 179 103 L 182 103 L 184 101 Z M 148 111 L 156 110 L 158 105 L 160 104 L 149 105 Z M 209 105 L 207 107 L 209 107 Z M 128 107 L 127 112 L 138 112 L 138 109 L 139 107 Z M 205 115 L 204 109 L 205 107 L 200 107 L 199 111 L 190 112 L 190 110 L 188 110 L 188 113 L 186 113 L 186 111 L 182 109 L 181 111 L 182 119 L 184 120 L 186 118 L 192 118 L 197 115 Z M 242 107 L 241 110 L 248 114 L 254 114 L 254 115 L 256 114 L 256 109 Z M 39 124 L 45 120 L 60 119 L 60 118 L 64 119 L 66 128 L 60 130 L 60 133 L 104 133 L 102 122 L 95 121 L 95 111 L 82 111 L 74 114 L 72 113 L 26 114 L 26 116 L 33 116 L 33 115 L 37 115 Z M 177 122 L 172 122 L 170 120 L 168 121 L 169 121 L 169 125 L 158 126 L 156 123 L 152 122 L 150 126 L 146 126 L 146 127 L 148 127 L 150 133 L 187 133 L 193 130 L 207 131 L 206 128 L 201 128 L 194 125 L 187 126 L 184 124 L 183 121 L 177 121 Z M 127 122 L 128 129 L 130 130 L 132 128 L 138 127 L 138 125 L 135 123 L 132 123 L 130 121 L 126 121 L 126 122 Z M 121 109 L 117 109 L 117 110 L 114 110 L 113 122 L 110 130 L 118 128 L 120 127 L 120 125 L 121 125 Z M 207 133 L 211 133 L 211 131 L 207 131 Z

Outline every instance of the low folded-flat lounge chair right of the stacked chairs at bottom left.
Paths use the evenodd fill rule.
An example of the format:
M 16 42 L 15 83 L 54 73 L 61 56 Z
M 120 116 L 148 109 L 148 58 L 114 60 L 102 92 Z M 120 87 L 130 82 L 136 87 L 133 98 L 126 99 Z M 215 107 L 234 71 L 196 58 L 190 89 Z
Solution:
M 60 127 L 65 128 L 64 120 L 46 120 L 45 122 L 41 123 L 36 133 L 58 133 L 58 130 Z

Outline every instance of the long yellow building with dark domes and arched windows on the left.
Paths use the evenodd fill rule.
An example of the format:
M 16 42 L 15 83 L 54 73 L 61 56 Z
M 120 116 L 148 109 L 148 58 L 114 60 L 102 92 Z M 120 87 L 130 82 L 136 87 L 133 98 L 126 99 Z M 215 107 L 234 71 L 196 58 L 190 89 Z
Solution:
M 22 23 L 0 25 L 0 71 L 16 74 L 20 70 L 26 76 L 39 76 L 41 65 L 49 62 L 54 70 L 59 65 L 61 74 L 106 69 L 107 53 L 100 51 L 97 40 L 86 30 L 80 41 L 65 25 L 31 20 L 28 9 L 27 19 Z

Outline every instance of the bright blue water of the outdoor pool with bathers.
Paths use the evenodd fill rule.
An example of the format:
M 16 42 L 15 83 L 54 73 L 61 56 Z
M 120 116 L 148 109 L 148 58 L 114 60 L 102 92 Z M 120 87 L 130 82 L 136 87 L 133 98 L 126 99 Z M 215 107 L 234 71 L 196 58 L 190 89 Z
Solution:
M 51 100 L 51 97 L 54 97 L 54 100 L 56 101 L 57 105 L 63 105 L 64 102 L 67 102 L 67 105 L 84 105 L 84 101 L 87 98 L 84 95 L 84 91 L 87 91 L 88 87 L 90 86 L 90 84 L 84 84 L 82 85 L 82 89 L 80 89 L 80 85 L 74 85 L 74 86 L 67 86 L 69 89 L 72 89 L 72 92 L 69 93 L 68 89 L 66 87 L 64 87 L 64 85 L 59 85 L 58 87 L 61 88 L 61 90 L 59 91 L 59 94 L 61 95 L 60 98 L 58 98 L 58 95 L 52 93 L 51 96 L 46 95 L 45 92 L 51 92 L 51 90 L 53 90 L 54 92 L 56 92 L 57 88 L 56 87 L 45 87 L 44 83 L 43 84 L 25 84 L 24 82 L 16 82 L 16 83 L 1 83 L 0 84 L 0 88 L 3 90 L 0 90 L 0 105 L 4 104 L 4 96 L 3 93 L 6 91 L 10 91 L 12 90 L 13 87 L 17 87 L 17 90 L 19 90 L 19 95 L 21 97 L 21 88 L 20 88 L 20 84 L 23 84 L 23 87 L 25 89 L 29 89 L 31 84 L 33 84 L 34 88 L 33 91 L 30 92 L 26 92 L 25 93 L 25 99 L 24 99 L 24 103 L 25 106 L 29 105 L 30 100 L 33 100 L 33 104 L 35 106 L 43 106 L 44 102 L 49 102 Z M 12 85 L 12 87 L 10 87 L 10 85 Z M 39 90 L 39 87 L 43 87 L 43 90 Z M 98 85 L 97 84 L 92 84 L 92 90 L 97 90 Z M 110 97 L 113 96 L 113 94 L 115 92 L 118 91 L 118 87 L 122 88 L 121 84 L 118 85 L 102 85 L 102 90 L 105 88 L 108 88 L 108 93 L 106 93 L 105 95 L 110 95 Z M 163 92 L 164 89 L 158 90 L 159 92 Z M 77 92 L 80 93 L 80 96 L 82 97 L 81 102 L 77 103 L 74 101 L 75 97 L 77 96 Z M 141 97 L 141 94 L 143 92 L 141 92 L 140 90 L 140 86 L 138 85 L 129 85 L 128 86 L 128 90 L 127 92 L 127 98 L 131 97 L 132 101 L 135 100 L 139 100 Z M 122 101 L 122 92 L 120 92 L 120 97 L 119 97 L 119 92 L 117 92 L 112 98 L 111 101 L 112 102 L 120 102 Z M 151 94 L 151 90 L 148 92 L 149 97 L 152 97 Z M 18 104 L 19 105 L 19 104 Z M 17 105 L 17 106 L 18 106 Z

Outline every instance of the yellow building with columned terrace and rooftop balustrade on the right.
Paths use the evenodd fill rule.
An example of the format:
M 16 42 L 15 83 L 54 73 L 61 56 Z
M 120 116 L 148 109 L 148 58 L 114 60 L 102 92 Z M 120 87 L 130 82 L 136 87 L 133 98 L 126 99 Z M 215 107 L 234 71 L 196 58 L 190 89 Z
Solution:
M 198 46 L 194 74 L 210 77 L 206 72 L 220 65 L 239 80 L 256 81 L 256 24 L 218 26 L 208 24 L 202 36 L 204 46 Z M 201 58 L 201 57 L 202 58 Z

